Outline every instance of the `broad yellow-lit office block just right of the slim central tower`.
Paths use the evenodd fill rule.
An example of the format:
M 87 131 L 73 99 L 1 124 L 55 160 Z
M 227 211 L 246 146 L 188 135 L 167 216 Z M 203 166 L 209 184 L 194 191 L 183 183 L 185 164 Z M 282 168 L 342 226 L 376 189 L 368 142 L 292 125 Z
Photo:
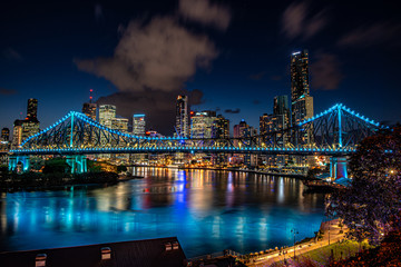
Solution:
M 195 112 L 190 119 L 190 138 L 214 138 L 216 111 Z

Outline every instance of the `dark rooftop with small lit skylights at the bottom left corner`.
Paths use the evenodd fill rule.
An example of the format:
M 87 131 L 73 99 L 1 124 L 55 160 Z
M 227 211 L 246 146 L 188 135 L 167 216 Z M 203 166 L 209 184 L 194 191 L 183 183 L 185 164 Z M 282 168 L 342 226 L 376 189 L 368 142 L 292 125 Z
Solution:
M 178 239 L 176 237 L 166 237 L 79 247 L 0 253 L 0 266 L 179 267 L 185 266 L 185 258 Z M 46 260 L 46 265 L 43 265 L 43 260 Z

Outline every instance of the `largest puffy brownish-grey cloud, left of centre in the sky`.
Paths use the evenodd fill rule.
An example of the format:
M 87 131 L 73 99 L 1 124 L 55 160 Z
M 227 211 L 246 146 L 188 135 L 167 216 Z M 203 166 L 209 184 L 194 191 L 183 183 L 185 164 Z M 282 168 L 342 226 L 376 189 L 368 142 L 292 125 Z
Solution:
M 120 91 L 182 89 L 197 67 L 206 68 L 217 57 L 214 43 L 194 34 L 174 18 L 130 22 L 113 58 L 76 59 L 80 70 L 111 81 Z

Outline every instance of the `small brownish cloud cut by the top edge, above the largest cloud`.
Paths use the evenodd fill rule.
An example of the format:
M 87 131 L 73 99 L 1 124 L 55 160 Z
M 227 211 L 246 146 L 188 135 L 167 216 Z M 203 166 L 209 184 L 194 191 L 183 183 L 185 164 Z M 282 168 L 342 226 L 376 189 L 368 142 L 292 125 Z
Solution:
M 221 30 L 227 29 L 231 20 L 227 8 L 212 4 L 208 0 L 179 0 L 179 13 L 186 19 L 214 26 Z

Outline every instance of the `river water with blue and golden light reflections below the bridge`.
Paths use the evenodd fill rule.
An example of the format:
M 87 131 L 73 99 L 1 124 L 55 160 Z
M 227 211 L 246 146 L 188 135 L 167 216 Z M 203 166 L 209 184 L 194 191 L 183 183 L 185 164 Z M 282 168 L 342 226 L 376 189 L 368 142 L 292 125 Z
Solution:
M 323 195 L 300 180 L 254 174 L 136 168 L 145 179 L 107 188 L 2 194 L 0 250 L 177 236 L 187 257 L 257 251 L 311 237 Z

